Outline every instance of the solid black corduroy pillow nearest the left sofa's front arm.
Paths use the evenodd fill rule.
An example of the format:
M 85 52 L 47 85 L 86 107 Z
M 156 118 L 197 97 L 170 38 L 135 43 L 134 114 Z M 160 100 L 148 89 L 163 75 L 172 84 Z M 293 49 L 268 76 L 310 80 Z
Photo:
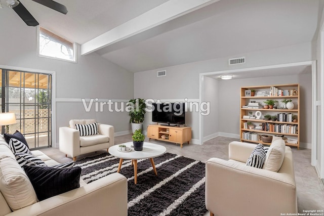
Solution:
M 80 187 L 81 167 L 23 166 L 39 201 Z

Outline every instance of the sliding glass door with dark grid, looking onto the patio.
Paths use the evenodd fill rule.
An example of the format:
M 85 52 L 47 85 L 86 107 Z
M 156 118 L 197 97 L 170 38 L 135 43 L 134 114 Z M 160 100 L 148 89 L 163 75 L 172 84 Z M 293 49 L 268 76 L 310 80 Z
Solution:
M 9 133 L 20 131 L 30 148 L 51 147 L 52 75 L 0 69 L 2 112 L 14 112 L 16 124 Z M 9 127 L 9 128 L 8 128 Z M 4 129 L 3 133 L 4 133 Z

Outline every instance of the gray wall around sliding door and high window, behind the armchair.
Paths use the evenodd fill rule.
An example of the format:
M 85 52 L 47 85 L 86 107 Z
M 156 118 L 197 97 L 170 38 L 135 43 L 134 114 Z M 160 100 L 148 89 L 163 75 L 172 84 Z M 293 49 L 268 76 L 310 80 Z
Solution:
M 98 98 L 128 101 L 133 98 L 133 73 L 108 62 L 96 53 L 77 54 L 77 63 L 38 57 L 36 53 L 36 27 L 28 27 L 16 18 L 12 10 L 0 13 L 0 65 L 23 69 L 55 71 L 57 103 L 55 104 L 56 137 L 58 128 L 68 125 L 73 118 L 96 118 L 98 122 L 115 126 L 115 132 L 127 133 L 130 129 L 126 112 L 111 113 L 108 109 L 86 112 L 80 99 Z M 10 20 L 10 21 L 9 21 Z M 79 46 L 77 47 L 79 49 Z M 53 130 L 55 131 L 55 130 Z M 55 144 L 54 144 L 55 145 Z

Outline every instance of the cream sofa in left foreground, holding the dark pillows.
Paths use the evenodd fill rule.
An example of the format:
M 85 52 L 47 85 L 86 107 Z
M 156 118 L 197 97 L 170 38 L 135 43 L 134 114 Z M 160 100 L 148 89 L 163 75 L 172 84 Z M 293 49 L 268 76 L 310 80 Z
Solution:
M 49 166 L 58 164 L 41 151 L 32 151 L 32 154 L 41 158 Z M 11 182 L 6 182 L 3 175 L 2 160 L 10 160 L 10 169 L 22 170 L 15 159 L 14 154 L 10 150 L 6 141 L 0 137 L 0 216 L 3 215 L 127 215 L 127 179 L 118 173 L 103 177 L 92 183 L 85 184 L 74 190 L 50 197 L 43 201 L 30 201 L 30 204 L 21 206 L 20 209 L 12 211 L 9 203 L 5 199 L 4 188 Z M 13 162 L 13 161 L 16 161 Z M 22 170 L 22 172 L 24 172 Z M 21 177 L 21 174 L 20 174 Z M 20 178 L 19 177 L 19 178 Z M 15 180 L 14 180 L 15 181 Z M 29 179 L 24 179 L 21 184 L 31 185 Z M 20 193 L 19 187 L 12 191 Z M 24 187 L 27 188 L 28 186 Z M 32 193 L 30 193 L 32 194 Z M 26 195 L 27 202 L 33 200 L 34 197 Z

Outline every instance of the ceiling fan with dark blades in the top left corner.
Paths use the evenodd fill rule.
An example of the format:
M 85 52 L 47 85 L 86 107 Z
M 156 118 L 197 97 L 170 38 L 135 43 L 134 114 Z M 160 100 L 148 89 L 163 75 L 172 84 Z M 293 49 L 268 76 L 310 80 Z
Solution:
M 44 5 L 48 8 L 51 8 L 55 11 L 58 11 L 62 14 L 67 14 L 67 9 L 64 5 L 60 3 L 54 2 L 52 0 L 32 0 L 36 3 Z M 12 8 L 20 18 L 28 25 L 28 26 L 37 26 L 39 23 L 35 20 L 35 18 L 29 13 L 29 11 L 23 6 L 23 4 L 18 0 L 6 0 L 9 8 Z M 1 0 L 0 0 L 0 8 L 1 8 Z

